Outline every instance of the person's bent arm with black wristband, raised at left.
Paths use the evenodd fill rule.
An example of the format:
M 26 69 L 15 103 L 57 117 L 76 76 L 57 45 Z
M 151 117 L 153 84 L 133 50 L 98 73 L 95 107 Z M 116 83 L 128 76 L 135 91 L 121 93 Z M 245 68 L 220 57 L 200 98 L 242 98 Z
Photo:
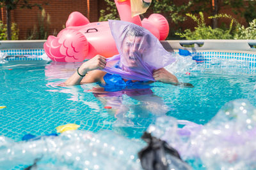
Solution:
M 101 55 L 96 55 L 92 59 L 84 62 L 81 67 L 77 69 L 76 73 L 65 81 L 64 85 L 79 85 L 80 83 L 94 83 L 100 81 L 100 76 L 106 73 L 97 69 L 104 69 L 105 66 L 106 58 Z M 87 73 L 88 75 L 86 75 Z

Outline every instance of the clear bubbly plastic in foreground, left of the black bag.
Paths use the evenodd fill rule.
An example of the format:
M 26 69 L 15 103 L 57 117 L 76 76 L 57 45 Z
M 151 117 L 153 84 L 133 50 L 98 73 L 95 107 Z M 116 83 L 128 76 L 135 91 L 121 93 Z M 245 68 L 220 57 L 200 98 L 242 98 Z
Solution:
M 69 131 L 17 143 L 1 137 L 0 169 L 35 163 L 40 169 L 141 169 L 137 153 L 143 146 L 106 131 Z

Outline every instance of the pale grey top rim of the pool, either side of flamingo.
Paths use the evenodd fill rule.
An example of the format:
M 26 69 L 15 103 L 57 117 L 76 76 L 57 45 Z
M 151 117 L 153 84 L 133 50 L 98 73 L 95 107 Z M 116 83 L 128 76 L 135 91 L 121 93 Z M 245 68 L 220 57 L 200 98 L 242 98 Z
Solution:
M 44 48 L 44 40 L 4 40 L 0 41 L 0 50 L 19 48 Z M 202 40 L 164 40 L 161 41 L 168 51 L 185 49 L 189 51 L 198 50 L 236 50 L 256 52 L 254 39 L 202 39 Z M 184 47 L 182 45 L 194 45 L 195 47 Z M 202 45 L 202 46 L 200 46 Z

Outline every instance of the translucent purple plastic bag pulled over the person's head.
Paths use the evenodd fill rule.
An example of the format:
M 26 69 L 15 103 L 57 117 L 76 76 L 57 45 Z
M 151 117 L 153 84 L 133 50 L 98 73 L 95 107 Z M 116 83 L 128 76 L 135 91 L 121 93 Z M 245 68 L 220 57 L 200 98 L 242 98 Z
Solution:
M 107 59 L 103 71 L 127 80 L 155 81 L 154 69 L 175 61 L 175 54 L 167 52 L 147 29 L 119 20 L 109 20 L 109 27 L 119 55 Z

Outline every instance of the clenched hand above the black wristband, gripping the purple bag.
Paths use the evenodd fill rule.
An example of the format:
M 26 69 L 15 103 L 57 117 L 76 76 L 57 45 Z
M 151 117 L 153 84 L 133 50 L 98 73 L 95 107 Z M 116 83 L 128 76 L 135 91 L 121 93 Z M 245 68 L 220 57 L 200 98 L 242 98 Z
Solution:
M 84 62 L 82 66 L 79 68 L 79 73 L 85 74 L 88 71 L 92 71 L 94 69 L 104 69 L 106 66 L 106 58 L 102 55 L 96 55 L 92 59 Z

